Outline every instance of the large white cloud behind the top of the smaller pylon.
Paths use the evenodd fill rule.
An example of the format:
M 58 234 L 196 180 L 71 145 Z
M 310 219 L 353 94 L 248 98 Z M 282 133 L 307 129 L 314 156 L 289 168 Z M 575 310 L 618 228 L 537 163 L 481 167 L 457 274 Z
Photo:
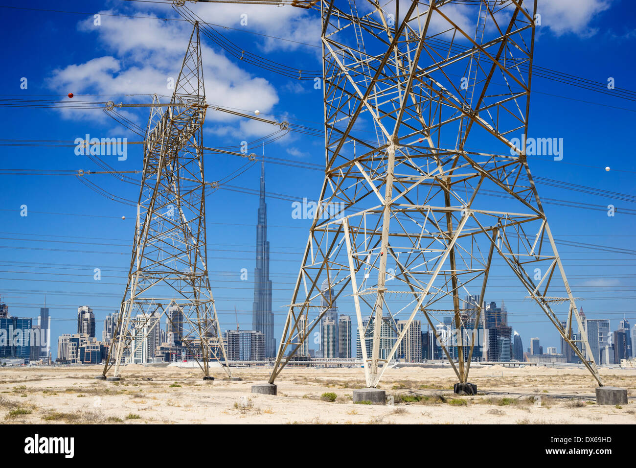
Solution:
M 137 15 L 153 16 L 139 12 Z M 178 76 L 192 27 L 188 22 L 102 16 L 100 26 L 93 25 L 90 18 L 80 22 L 78 30 L 80 33 L 97 34 L 98 43 L 109 55 L 55 70 L 48 81 L 50 88 L 65 94 L 170 95 L 172 90 L 167 86 L 168 79 L 176 80 Z M 271 83 L 235 65 L 223 51 L 214 50 L 205 43 L 204 38 L 202 61 L 209 104 L 267 112 L 278 103 L 279 97 Z M 106 99 L 99 97 L 100 101 Z M 142 100 L 147 101 L 148 98 Z M 67 118 L 103 118 L 100 112 L 86 110 L 64 110 L 63 115 Z M 209 122 L 237 120 L 239 117 L 226 113 L 207 113 Z M 251 128 L 244 122 L 239 125 Z

